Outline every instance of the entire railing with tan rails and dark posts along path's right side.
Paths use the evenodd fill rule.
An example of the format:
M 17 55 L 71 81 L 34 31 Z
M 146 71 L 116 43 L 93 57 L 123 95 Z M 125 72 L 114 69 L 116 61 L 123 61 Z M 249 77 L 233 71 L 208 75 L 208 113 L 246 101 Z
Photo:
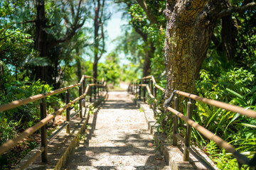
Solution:
M 149 80 L 149 84 L 146 83 L 146 80 Z M 143 84 L 144 83 L 144 84 Z M 150 86 L 150 88 L 149 88 Z M 154 87 L 153 87 L 154 86 Z M 142 96 L 142 87 L 144 87 L 144 94 Z M 154 113 L 156 111 L 156 103 L 159 103 L 156 99 L 156 89 L 159 89 L 160 91 L 164 92 L 164 88 L 156 84 L 156 80 L 153 76 L 143 77 L 142 79 L 139 79 L 137 81 L 132 82 L 129 84 L 128 91 L 132 94 L 136 94 L 139 96 L 139 100 L 143 98 L 143 101 L 146 101 L 146 91 L 149 94 L 149 97 L 153 99 L 154 106 L 153 110 Z M 153 95 L 152 95 L 153 93 Z M 174 96 L 176 95 L 176 96 Z M 233 106 L 228 103 L 223 103 L 220 101 L 211 100 L 209 98 L 203 98 L 201 96 L 196 96 L 195 94 L 188 94 L 183 91 L 174 90 L 174 92 L 171 94 L 171 97 L 165 101 L 164 107 L 170 111 L 171 113 L 174 113 L 174 129 L 173 129 L 173 145 L 177 145 L 177 140 L 181 140 L 184 142 L 184 149 L 183 149 L 183 161 L 187 162 L 189 158 L 189 152 L 193 154 L 194 157 L 198 159 L 199 162 L 201 162 L 204 166 L 206 166 L 207 169 L 213 169 L 210 164 L 208 164 L 205 160 L 201 159 L 201 157 L 196 154 L 196 152 L 193 151 L 193 149 L 190 147 L 190 138 L 191 138 L 191 127 L 193 127 L 195 130 L 200 132 L 204 137 L 206 137 L 208 140 L 213 140 L 219 147 L 225 149 L 227 152 L 232 153 L 233 156 L 238 160 L 239 164 L 247 164 L 248 166 L 255 167 L 255 159 L 256 159 L 256 153 L 255 156 L 252 159 L 248 159 L 245 157 L 245 155 L 238 152 L 233 145 L 230 145 L 230 143 L 225 142 L 223 139 L 215 135 L 213 132 L 210 132 L 210 130 L 207 130 L 203 126 L 199 125 L 195 121 L 192 120 L 192 102 L 188 101 L 187 103 L 187 113 L 186 116 L 183 115 L 178 110 L 178 95 L 184 96 L 186 98 L 190 98 L 196 101 L 201 101 L 203 103 L 206 103 L 210 106 L 215 106 L 218 108 L 223 108 L 226 111 L 231 111 L 235 113 L 240 113 L 242 115 L 245 115 L 249 118 L 255 118 L 256 119 L 256 112 L 252 111 L 247 108 L 242 108 L 239 106 Z M 174 108 L 171 108 L 170 103 L 174 98 Z M 151 106 L 152 108 L 152 106 Z M 181 135 L 178 135 L 178 118 L 181 118 L 186 122 L 186 125 L 184 126 L 186 128 L 186 134 L 185 137 L 182 137 Z M 256 167 L 255 167 L 256 168 Z

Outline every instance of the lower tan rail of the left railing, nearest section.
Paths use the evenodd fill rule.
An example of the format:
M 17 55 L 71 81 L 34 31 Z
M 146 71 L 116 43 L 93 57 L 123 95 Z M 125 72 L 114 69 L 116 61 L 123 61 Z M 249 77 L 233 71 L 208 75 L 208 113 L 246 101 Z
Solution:
M 9 150 L 11 147 L 14 147 L 14 145 L 16 145 L 19 141 L 23 140 L 25 137 L 32 135 L 33 132 L 36 132 L 36 130 L 43 127 L 43 125 L 46 125 L 46 123 L 48 123 L 48 121 L 55 118 L 56 115 L 59 115 L 60 113 L 65 111 L 67 108 L 69 108 L 73 103 L 85 97 L 85 94 L 79 96 L 78 98 L 75 98 L 73 101 L 65 105 L 63 108 L 60 108 L 58 111 L 55 111 L 55 113 L 53 113 L 52 115 L 48 115 L 46 118 L 40 120 L 40 122 L 36 123 L 36 125 L 33 125 L 31 128 L 24 130 L 23 132 L 21 132 L 21 135 L 18 135 L 17 137 L 14 137 L 14 139 L 8 140 L 4 144 L 2 144 L 0 147 L 0 155 L 4 154 L 4 152 Z

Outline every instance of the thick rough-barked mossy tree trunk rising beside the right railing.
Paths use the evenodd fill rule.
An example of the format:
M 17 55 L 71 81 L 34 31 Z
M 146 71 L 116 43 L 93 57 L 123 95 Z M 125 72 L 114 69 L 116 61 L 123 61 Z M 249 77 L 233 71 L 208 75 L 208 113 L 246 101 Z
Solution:
M 228 0 L 210 0 L 206 4 L 207 1 L 166 4 L 166 97 L 174 89 L 196 93 L 195 81 L 206 58 L 218 14 L 228 8 Z

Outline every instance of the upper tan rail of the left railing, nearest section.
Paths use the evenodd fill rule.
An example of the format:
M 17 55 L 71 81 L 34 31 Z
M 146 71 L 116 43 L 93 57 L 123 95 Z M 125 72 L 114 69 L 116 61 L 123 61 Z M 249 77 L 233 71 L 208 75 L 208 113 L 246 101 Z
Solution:
M 44 97 L 47 97 L 47 96 L 52 96 L 53 94 L 58 94 L 62 91 L 65 91 L 67 89 L 72 89 L 72 88 L 74 88 L 76 86 L 80 86 L 80 85 L 81 84 L 78 83 L 78 84 L 74 84 L 74 85 L 70 85 L 70 86 L 65 86 L 63 88 L 60 88 L 60 89 L 57 89 L 57 90 L 54 90 L 54 91 L 49 91 L 46 94 L 37 94 L 35 96 L 20 99 L 20 100 L 17 100 L 17 101 L 11 101 L 10 103 L 6 103 L 4 105 L 1 105 L 0 106 L 0 112 L 1 111 L 8 111 L 11 108 L 16 108 L 16 107 L 21 106 L 21 105 L 26 104 L 26 103 L 31 103 L 33 101 L 38 101 L 41 98 L 44 98 Z

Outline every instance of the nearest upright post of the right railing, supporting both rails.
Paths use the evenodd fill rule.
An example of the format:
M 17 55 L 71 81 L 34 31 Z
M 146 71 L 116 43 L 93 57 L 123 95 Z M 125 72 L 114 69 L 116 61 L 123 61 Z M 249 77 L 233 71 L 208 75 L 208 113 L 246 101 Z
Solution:
M 191 101 L 188 101 L 188 106 L 187 106 L 187 115 L 186 117 L 191 119 L 192 118 L 192 110 L 193 106 Z M 185 142 L 184 142 L 184 151 L 183 151 L 183 161 L 188 162 L 189 159 L 189 152 L 188 152 L 188 147 L 190 145 L 190 140 L 191 140 L 191 126 L 186 123 L 186 135 L 185 135 Z

